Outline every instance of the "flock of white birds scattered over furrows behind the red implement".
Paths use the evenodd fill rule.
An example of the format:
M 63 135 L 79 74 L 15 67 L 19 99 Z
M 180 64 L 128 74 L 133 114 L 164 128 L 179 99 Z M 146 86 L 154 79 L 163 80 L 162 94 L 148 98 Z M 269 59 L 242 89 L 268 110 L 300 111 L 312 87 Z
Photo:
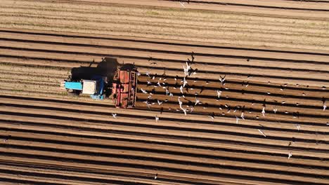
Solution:
M 152 60 L 152 57 L 150 57 L 150 60 Z M 150 61 L 149 60 L 149 61 Z M 202 109 L 207 109 L 207 103 L 203 104 L 201 102 L 201 100 L 199 99 L 198 95 L 202 94 L 203 90 L 204 90 L 204 87 L 202 86 L 202 88 L 200 89 L 200 92 L 198 93 L 194 93 L 195 95 L 195 100 L 191 101 L 191 100 L 188 100 L 186 98 L 186 93 L 189 92 L 189 90 L 193 90 L 193 85 L 189 85 L 189 82 L 188 81 L 192 81 L 193 82 L 196 82 L 196 78 L 193 78 L 193 79 L 190 79 L 192 75 L 195 75 L 197 74 L 198 72 L 198 69 L 193 69 L 193 64 L 195 64 L 194 62 L 195 60 L 195 57 L 194 57 L 194 53 L 191 54 L 191 60 L 188 58 L 188 60 L 186 61 L 186 64 L 183 64 L 183 74 L 184 76 L 183 77 L 179 77 L 179 76 L 176 76 L 174 78 L 174 80 L 176 81 L 174 87 L 172 87 L 173 89 L 179 89 L 179 96 L 177 98 L 177 103 L 179 105 L 179 108 L 176 109 L 176 111 L 182 111 L 184 115 L 187 115 L 188 113 L 191 113 L 193 112 L 193 110 L 195 109 L 195 107 L 202 105 Z M 250 60 L 247 59 L 247 61 L 249 62 Z M 156 62 L 152 62 L 150 64 L 157 64 Z M 138 74 L 138 75 L 141 75 L 141 74 Z M 150 85 L 153 85 L 154 88 L 153 90 L 149 90 L 149 92 L 147 90 L 144 90 L 143 88 L 140 88 L 138 89 L 141 93 L 144 93 L 146 95 L 148 95 L 148 98 L 147 100 L 144 102 L 146 104 L 146 106 L 148 108 L 150 108 L 153 104 L 158 104 L 159 106 L 161 106 L 160 108 L 160 114 L 162 114 L 162 111 L 163 111 L 163 107 L 162 107 L 162 104 L 164 104 L 165 102 L 168 102 L 170 97 L 174 97 L 174 93 L 172 93 L 172 91 L 169 89 L 169 83 L 166 83 L 167 81 L 167 76 L 165 75 L 165 72 L 164 74 L 160 75 L 160 76 L 157 76 L 157 74 L 155 75 L 151 75 L 149 72 L 146 72 L 146 76 L 148 76 L 148 79 L 147 79 L 147 86 L 150 86 Z M 250 78 L 250 76 L 248 76 L 248 78 Z M 157 81 L 158 79 L 158 81 Z M 154 82 L 155 81 L 155 82 Z M 157 81 L 157 82 L 156 82 Z M 205 82 L 206 84 L 209 83 L 209 81 Z M 219 84 L 221 84 L 221 88 L 218 89 L 218 90 L 215 90 L 215 95 L 216 95 L 216 101 L 219 101 L 220 98 L 222 98 L 222 93 L 224 92 L 224 90 L 228 90 L 228 88 L 226 87 L 226 75 L 224 76 L 219 76 L 219 81 L 218 81 Z M 270 82 L 269 82 L 270 83 Z M 249 85 L 248 82 L 243 82 L 242 84 L 243 86 L 247 87 Z M 285 87 L 287 86 L 288 84 L 283 84 L 283 85 L 280 85 L 280 90 L 284 90 Z M 298 86 L 298 84 L 297 84 Z M 155 95 L 156 93 L 156 90 L 155 88 L 163 88 L 165 90 L 165 95 L 167 96 L 167 99 L 161 101 L 161 100 L 157 100 L 157 99 L 153 99 L 153 95 Z M 323 87 L 324 89 L 325 87 Z M 243 92 L 242 92 L 243 93 Z M 267 94 L 271 94 L 270 92 L 268 92 Z M 303 96 L 305 96 L 305 93 L 302 93 Z M 183 104 L 183 101 L 182 100 L 186 100 L 188 102 L 188 104 Z M 327 109 L 327 105 L 325 104 L 326 100 L 325 100 L 325 97 L 323 97 L 323 100 L 322 100 L 322 103 L 323 103 L 323 111 L 325 111 L 325 109 Z M 252 103 L 253 105 L 254 103 Z M 280 102 L 280 104 L 285 104 L 285 101 L 283 102 Z M 299 104 L 297 103 L 296 106 L 299 106 Z M 172 108 L 168 108 L 169 111 L 172 110 Z M 236 116 L 236 123 L 239 122 L 240 119 L 242 120 L 245 120 L 245 111 L 247 111 L 245 109 L 245 106 L 238 106 L 238 107 L 235 107 L 235 109 L 231 109 L 231 107 L 228 105 L 228 104 L 224 104 L 222 105 L 221 107 L 219 107 L 219 109 L 223 110 L 223 109 L 227 109 L 227 112 L 229 113 L 231 110 L 232 112 L 236 113 L 237 111 L 240 111 L 240 116 Z M 264 103 L 262 104 L 262 111 L 261 111 L 261 114 L 262 116 L 266 116 L 266 100 L 264 100 Z M 273 108 L 273 113 L 276 114 L 278 112 L 278 108 L 275 107 Z M 285 114 L 288 114 L 288 111 L 284 111 Z M 251 113 L 249 111 L 249 113 Z M 225 113 L 223 112 L 222 115 L 225 115 Z M 112 114 L 112 116 L 114 118 L 117 118 L 117 114 Z M 214 118 L 215 118 L 215 114 L 214 112 L 212 114 L 209 114 L 208 115 L 209 118 L 212 119 L 212 121 L 214 121 Z M 292 114 L 293 118 L 299 118 L 299 112 L 294 112 Z M 256 118 L 258 119 L 259 116 L 256 116 Z M 160 118 L 156 115 L 155 116 L 155 122 L 157 123 L 158 121 L 160 120 Z M 327 124 L 329 125 L 329 123 Z M 262 125 L 261 125 L 262 126 Z M 299 124 L 295 124 L 297 130 L 300 130 L 301 127 Z M 263 130 L 261 129 L 258 129 L 259 133 L 261 135 L 263 135 L 264 137 L 266 137 L 266 134 Z M 290 142 L 289 146 L 294 143 L 294 142 Z M 290 159 L 292 157 L 292 153 L 291 151 L 288 153 L 288 159 Z M 155 179 L 156 179 L 157 176 L 155 176 Z

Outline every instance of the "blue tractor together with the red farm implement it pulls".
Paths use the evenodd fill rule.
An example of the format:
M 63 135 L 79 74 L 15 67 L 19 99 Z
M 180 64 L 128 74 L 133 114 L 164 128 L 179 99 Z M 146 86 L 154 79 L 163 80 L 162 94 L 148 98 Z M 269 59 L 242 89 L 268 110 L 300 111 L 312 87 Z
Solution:
M 110 65 L 110 68 L 105 71 L 101 65 L 97 68 L 91 66 L 74 68 L 71 71 L 72 77 L 63 81 L 60 86 L 66 89 L 69 95 L 86 94 L 94 100 L 104 100 L 112 93 L 115 107 L 123 109 L 135 107 L 138 76 L 135 65 L 123 64 L 121 67 Z

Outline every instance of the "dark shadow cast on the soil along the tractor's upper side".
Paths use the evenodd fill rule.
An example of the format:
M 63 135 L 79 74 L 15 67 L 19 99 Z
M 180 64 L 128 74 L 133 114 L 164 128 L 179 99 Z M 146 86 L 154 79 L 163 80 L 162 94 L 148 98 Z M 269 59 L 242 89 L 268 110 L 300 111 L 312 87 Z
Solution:
M 72 81 L 80 81 L 91 80 L 95 78 L 95 76 L 107 77 L 107 84 L 105 87 L 105 97 L 109 97 L 112 91 L 112 81 L 113 76 L 115 76 L 115 72 L 117 71 L 117 67 L 119 63 L 116 58 L 105 57 L 101 62 L 97 64 L 97 67 L 91 67 L 96 62 L 91 62 L 89 67 L 74 67 L 71 69 L 71 80 Z

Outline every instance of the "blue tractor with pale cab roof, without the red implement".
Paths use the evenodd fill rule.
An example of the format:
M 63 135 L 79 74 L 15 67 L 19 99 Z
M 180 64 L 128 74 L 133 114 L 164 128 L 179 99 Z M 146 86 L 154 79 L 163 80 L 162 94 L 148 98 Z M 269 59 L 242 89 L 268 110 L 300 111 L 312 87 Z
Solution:
M 94 100 L 103 100 L 105 97 L 104 88 L 106 83 L 105 77 L 96 76 L 91 80 L 63 81 L 60 86 L 77 95 L 82 93 L 90 95 Z

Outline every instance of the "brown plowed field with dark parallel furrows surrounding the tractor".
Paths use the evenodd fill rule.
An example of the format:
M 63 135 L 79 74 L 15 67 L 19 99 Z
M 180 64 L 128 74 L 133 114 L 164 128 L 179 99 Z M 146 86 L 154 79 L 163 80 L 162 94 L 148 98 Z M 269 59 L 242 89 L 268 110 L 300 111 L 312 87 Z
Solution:
M 0 23 L 1 184 L 329 184 L 329 1 L 18 2 L 1 1 L 0 6 L 1 20 L 15 17 Z M 60 15 L 69 5 L 75 12 Z M 201 33 L 212 42 L 198 42 L 203 40 L 200 34 L 179 41 L 169 40 L 179 39 L 172 37 L 179 31 L 166 34 L 169 28 L 157 36 L 153 26 L 154 35 L 146 36 L 146 25 L 139 35 L 136 30 L 122 34 L 124 27 L 104 34 L 106 29 L 74 28 L 74 22 L 65 22 L 65 16 L 79 17 L 79 11 L 86 14 L 86 22 L 92 16 L 98 20 L 97 14 L 86 13 L 92 7 L 103 7 L 103 15 L 110 17 L 115 11 L 107 15 L 107 8 L 135 10 L 126 20 L 143 22 L 133 15 L 144 13 L 141 5 L 171 11 L 173 15 L 166 15 L 170 21 L 179 18 L 179 8 L 186 15 L 200 12 L 200 19 L 216 11 L 257 11 L 243 16 L 257 18 L 259 22 L 250 20 L 254 24 L 263 18 L 273 21 L 269 32 L 257 28 L 264 35 L 259 42 L 247 37 L 241 45 L 238 38 L 225 40 L 219 33 Z M 28 20 L 33 10 L 44 18 Z M 312 14 L 306 18 L 305 13 Z M 54 22 L 29 22 L 60 16 L 65 19 L 58 29 L 51 26 Z M 97 24 L 111 22 L 101 22 L 106 19 Z M 288 22 L 280 20 L 300 25 L 288 30 Z M 202 25 L 201 19 L 197 25 L 209 22 Z M 306 39 L 290 43 L 293 37 L 284 39 L 280 29 L 280 40 L 271 37 L 276 23 L 292 34 L 299 27 Z M 158 27 L 163 24 L 159 20 Z M 181 29 L 189 33 L 186 25 Z M 254 38 L 255 30 L 250 31 Z M 198 70 L 186 77 L 181 90 L 183 65 L 192 56 L 191 67 Z M 136 109 L 115 109 L 112 100 L 70 97 L 60 89 L 72 68 L 96 67 L 104 57 L 138 67 Z

